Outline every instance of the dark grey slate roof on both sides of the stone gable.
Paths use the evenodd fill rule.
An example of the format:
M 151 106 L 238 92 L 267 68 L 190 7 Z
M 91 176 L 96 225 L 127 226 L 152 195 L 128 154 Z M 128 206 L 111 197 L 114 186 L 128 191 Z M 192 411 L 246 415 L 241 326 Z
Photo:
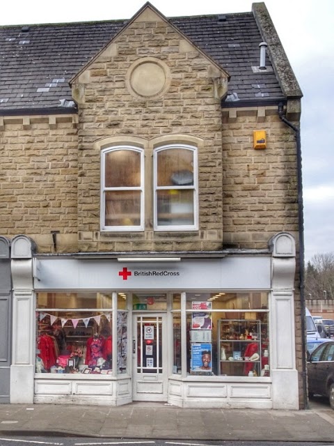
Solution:
M 169 20 L 230 73 L 227 101 L 283 98 L 268 56 L 268 71 L 253 72 L 252 66 L 259 65 L 262 42 L 253 13 Z M 22 109 L 72 111 L 68 82 L 126 23 L 115 20 L 0 27 L 0 114 Z

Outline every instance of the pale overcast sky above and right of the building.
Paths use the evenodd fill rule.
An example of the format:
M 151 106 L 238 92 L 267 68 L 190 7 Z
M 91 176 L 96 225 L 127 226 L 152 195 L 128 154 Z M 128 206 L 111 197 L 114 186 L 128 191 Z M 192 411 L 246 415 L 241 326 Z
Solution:
M 1 8 L 0 24 L 128 19 L 145 0 L 16 0 Z M 251 0 L 151 0 L 166 17 L 243 13 Z M 305 260 L 334 252 L 334 1 L 264 1 L 303 91 L 301 146 Z M 87 5 L 87 6 L 86 6 Z

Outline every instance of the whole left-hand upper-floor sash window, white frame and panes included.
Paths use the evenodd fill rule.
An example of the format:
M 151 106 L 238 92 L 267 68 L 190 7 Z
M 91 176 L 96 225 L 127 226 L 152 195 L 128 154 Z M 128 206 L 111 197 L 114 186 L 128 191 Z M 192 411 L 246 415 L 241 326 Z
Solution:
M 143 231 L 143 150 L 118 146 L 102 151 L 102 231 Z

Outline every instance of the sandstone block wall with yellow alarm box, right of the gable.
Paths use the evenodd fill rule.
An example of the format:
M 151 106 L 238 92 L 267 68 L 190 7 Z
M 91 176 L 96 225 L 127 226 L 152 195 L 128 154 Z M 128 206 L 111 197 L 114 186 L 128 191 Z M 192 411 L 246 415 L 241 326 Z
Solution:
M 298 243 L 298 190 L 294 131 L 276 107 L 223 110 L 223 245 L 264 248 L 288 231 Z M 298 123 L 295 123 L 298 124 Z M 267 132 L 267 148 L 253 148 L 253 130 Z

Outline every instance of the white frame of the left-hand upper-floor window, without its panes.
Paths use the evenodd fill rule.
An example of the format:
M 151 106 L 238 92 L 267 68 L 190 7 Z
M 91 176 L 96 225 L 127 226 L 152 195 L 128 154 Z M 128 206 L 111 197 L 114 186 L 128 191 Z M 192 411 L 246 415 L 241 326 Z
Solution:
M 110 153 L 112 151 L 134 151 L 141 154 L 141 185 L 136 187 L 106 187 L 105 186 L 105 159 L 106 159 L 106 153 Z M 144 184 L 145 184 L 145 176 L 144 176 L 144 151 L 142 148 L 136 147 L 136 146 L 127 146 L 127 145 L 120 145 L 120 146 L 112 146 L 107 147 L 102 150 L 101 153 L 101 202 L 100 202 L 100 228 L 101 231 L 108 231 L 108 232 L 115 232 L 115 231 L 123 231 L 123 232 L 129 232 L 129 231 L 143 231 L 144 230 L 144 217 L 145 217 L 145 190 L 144 190 Z M 105 224 L 105 195 L 106 192 L 118 190 L 139 190 L 141 191 L 141 224 L 138 226 L 106 226 Z

